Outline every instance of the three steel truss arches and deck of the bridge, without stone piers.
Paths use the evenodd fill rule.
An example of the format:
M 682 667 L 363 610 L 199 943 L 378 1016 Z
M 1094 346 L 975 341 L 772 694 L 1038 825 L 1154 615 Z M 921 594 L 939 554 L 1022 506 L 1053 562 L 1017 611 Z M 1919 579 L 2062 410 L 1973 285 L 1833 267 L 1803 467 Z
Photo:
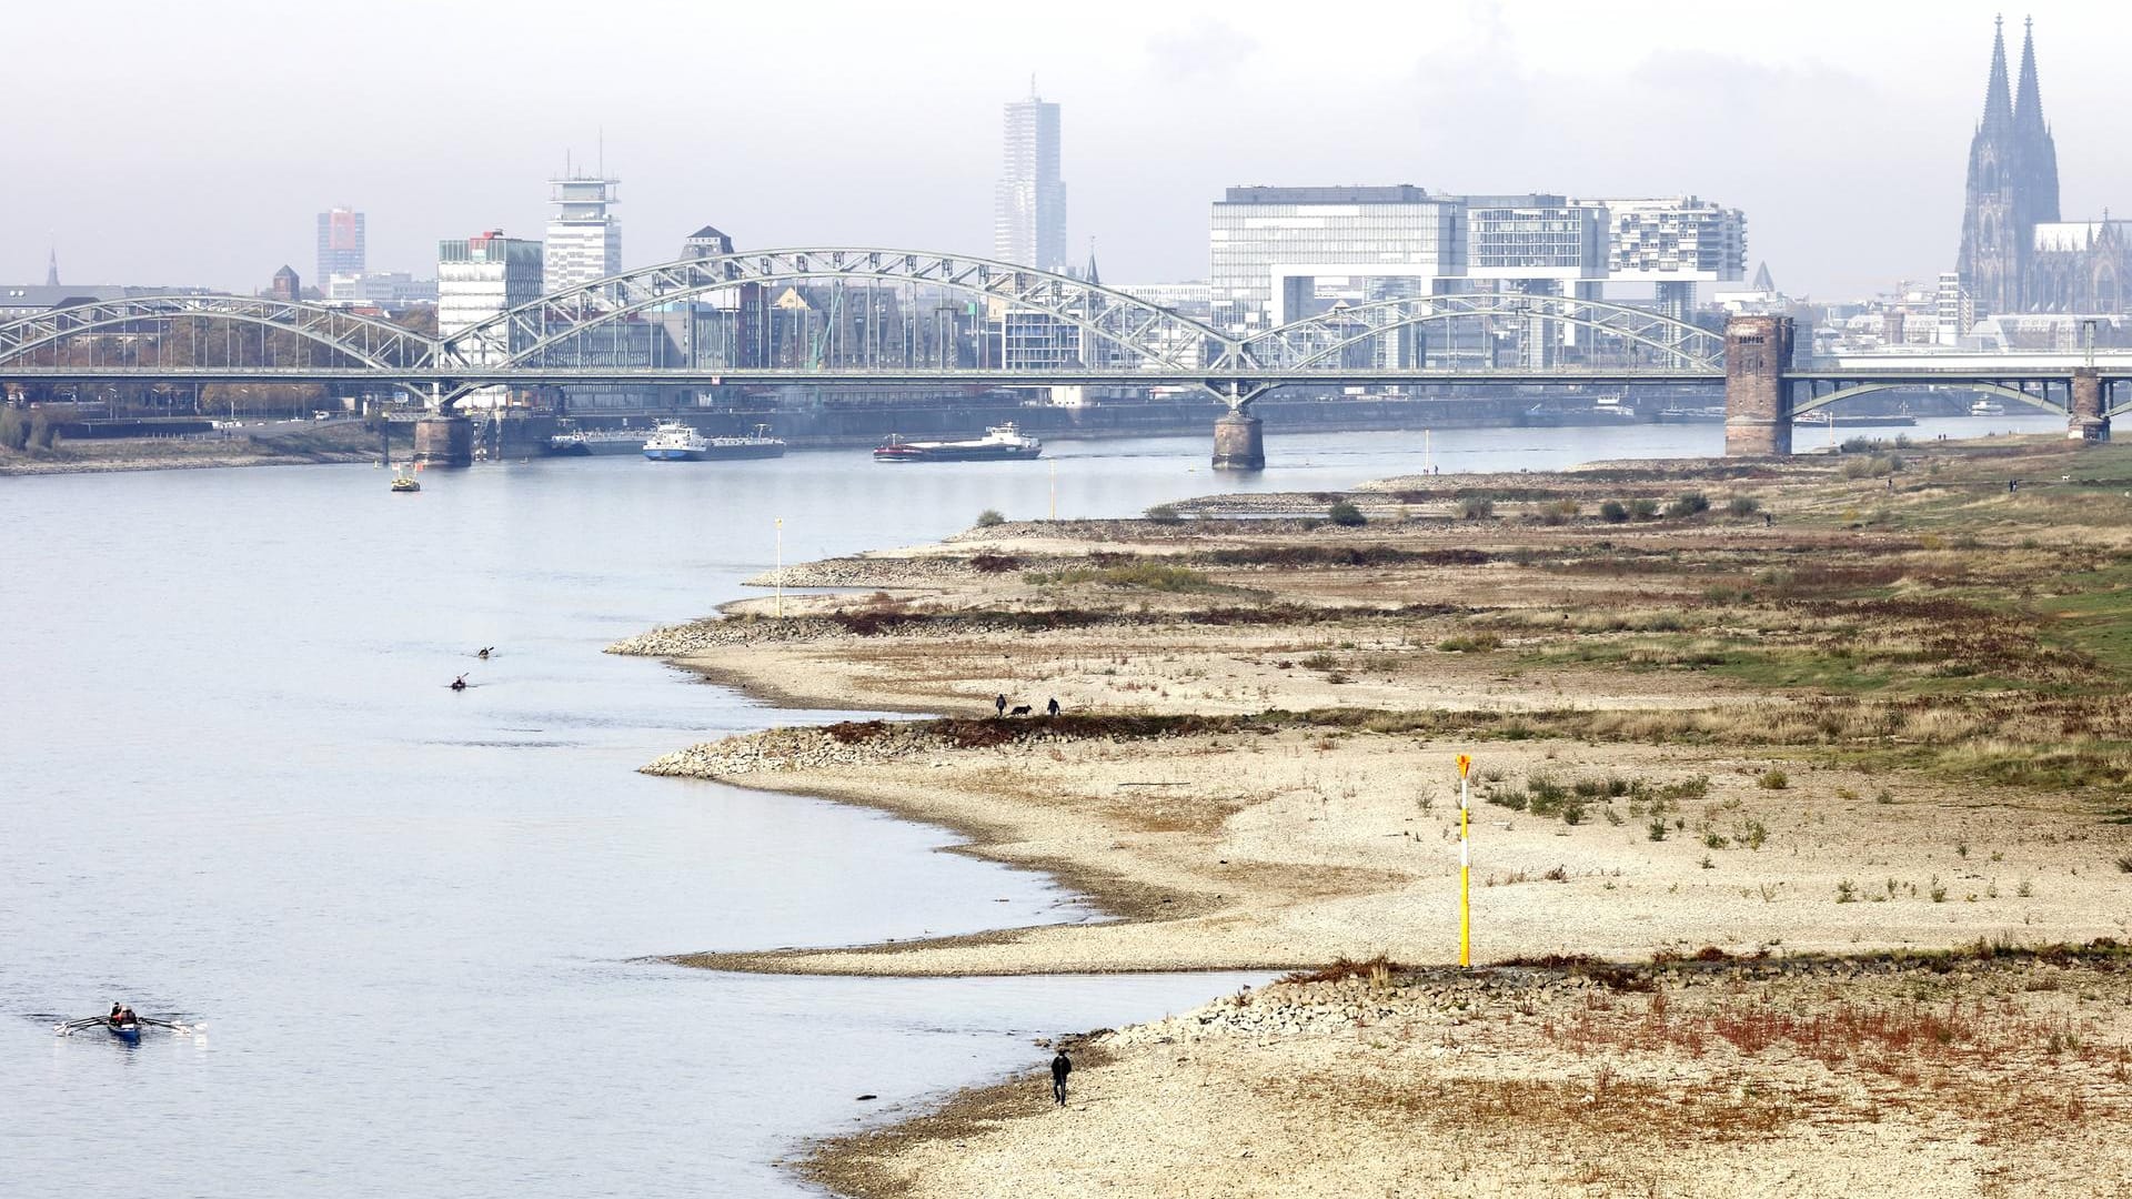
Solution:
M 736 288 L 776 284 L 859 284 L 951 294 L 1002 311 L 1072 329 L 1070 363 L 917 363 L 910 354 L 844 354 L 806 367 L 674 367 L 620 363 L 601 335 L 620 335 L 648 314 L 693 305 Z M 868 301 L 859 301 L 868 303 Z M 912 305 L 915 307 L 915 305 Z M 145 333 L 179 320 L 235 322 L 286 333 L 313 350 L 305 363 L 196 361 L 156 365 L 58 363 L 75 337 Z M 1539 365 L 1426 367 L 1392 346 L 1403 331 L 1437 322 L 1567 324 L 1612 339 L 1605 367 Z M 836 324 L 836 316 L 829 316 Z M 1004 348 L 1002 348 L 1004 356 Z M 94 356 L 92 356 L 94 358 Z M 475 326 L 441 337 L 301 301 L 247 297 L 139 297 L 90 303 L 0 324 L 0 378 L 47 380 L 209 380 L 209 382 L 382 382 L 429 393 L 450 410 L 478 386 L 510 384 L 1008 384 L 1047 382 L 1196 384 L 1245 407 L 1283 384 L 1324 382 L 1716 382 L 1723 339 L 1648 309 L 1605 301 L 1471 292 L 1341 305 L 1251 337 L 1087 279 L 974 258 L 887 247 L 789 247 L 684 258 L 640 267 L 578 288 L 544 294 Z

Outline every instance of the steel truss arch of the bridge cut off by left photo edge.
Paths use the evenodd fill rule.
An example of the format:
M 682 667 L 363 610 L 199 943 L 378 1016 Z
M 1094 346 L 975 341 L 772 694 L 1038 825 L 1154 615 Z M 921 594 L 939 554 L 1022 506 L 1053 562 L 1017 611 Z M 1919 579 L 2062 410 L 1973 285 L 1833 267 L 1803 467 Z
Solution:
M 424 369 L 437 361 L 437 341 L 433 337 L 343 307 L 258 297 L 179 294 L 94 301 L 0 324 L 0 367 L 19 363 L 36 350 L 58 346 L 68 337 L 179 318 L 224 320 L 292 333 L 303 341 L 382 371 Z

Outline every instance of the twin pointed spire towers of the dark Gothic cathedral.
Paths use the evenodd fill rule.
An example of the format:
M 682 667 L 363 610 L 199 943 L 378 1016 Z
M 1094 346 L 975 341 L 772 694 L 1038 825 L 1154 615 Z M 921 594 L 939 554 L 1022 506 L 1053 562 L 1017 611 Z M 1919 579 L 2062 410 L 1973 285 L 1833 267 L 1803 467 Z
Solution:
M 2036 38 L 2021 47 L 2021 94 L 2006 83 L 2006 34 L 1991 32 L 1985 113 L 1970 139 L 1957 269 L 1983 314 L 2023 311 L 2036 224 L 2057 220 L 2057 147 L 2042 119 Z

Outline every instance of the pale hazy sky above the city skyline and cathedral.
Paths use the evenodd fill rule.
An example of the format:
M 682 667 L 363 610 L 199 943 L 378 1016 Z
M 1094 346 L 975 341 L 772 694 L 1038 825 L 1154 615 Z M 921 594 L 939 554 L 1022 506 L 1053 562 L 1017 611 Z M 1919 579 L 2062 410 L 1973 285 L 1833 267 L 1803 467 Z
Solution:
M 1068 239 L 1107 282 L 1207 275 L 1232 183 L 1695 192 L 1793 294 L 1953 265 L 1993 4 L 301 0 L 15 4 L 0 282 L 307 282 L 313 220 L 373 269 L 539 237 L 544 179 L 623 179 L 623 256 L 991 250 L 1000 105 L 1064 105 Z M 2132 215 L 2132 6 L 2036 17 L 2066 218 Z M 1019 23 L 1017 13 L 1043 13 Z M 2019 17 L 2008 11 L 2010 53 Z

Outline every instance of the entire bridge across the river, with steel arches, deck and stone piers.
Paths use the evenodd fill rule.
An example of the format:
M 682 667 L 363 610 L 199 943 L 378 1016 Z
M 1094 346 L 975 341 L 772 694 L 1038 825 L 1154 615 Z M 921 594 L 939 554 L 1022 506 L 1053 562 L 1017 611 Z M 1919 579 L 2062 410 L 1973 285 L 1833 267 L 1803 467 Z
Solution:
M 780 333 L 782 329 L 782 333 Z M 1281 386 L 1723 384 L 1729 454 L 1791 452 L 1804 412 L 1895 386 L 2000 395 L 2106 439 L 2132 356 L 1876 354 L 1799 367 L 1780 316 L 1723 335 L 1531 292 L 1337 303 L 1234 335 L 1117 288 L 964 254 L 795 247 L 684 258 L 424 333 L 258 297 L 134 297 L 0 324 L 0 384 L 401 388 L 418 454 L 465 463 L 461 407 L 533 386 L 1188 386 L 1226 405 L 1217 467 L 1264 465 L 1251 403 Z

